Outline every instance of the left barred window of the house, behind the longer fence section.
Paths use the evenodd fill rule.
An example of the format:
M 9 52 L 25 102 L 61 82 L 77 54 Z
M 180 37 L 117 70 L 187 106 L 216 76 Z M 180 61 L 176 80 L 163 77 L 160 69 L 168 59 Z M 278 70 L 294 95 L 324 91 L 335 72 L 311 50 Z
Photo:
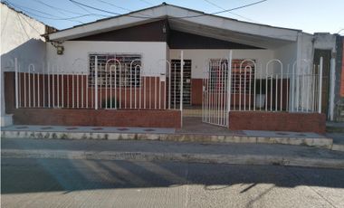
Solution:
M 98 58 L 98 87 L 140 86 L 140 54 L 90 54 L 90 87 L 95 85 L 96 57 Z

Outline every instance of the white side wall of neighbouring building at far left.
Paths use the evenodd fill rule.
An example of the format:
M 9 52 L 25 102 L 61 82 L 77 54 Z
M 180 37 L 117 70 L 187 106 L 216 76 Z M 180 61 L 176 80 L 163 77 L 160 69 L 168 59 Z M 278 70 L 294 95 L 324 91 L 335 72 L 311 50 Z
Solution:
M 45 59 L 45 43 L 41 34 L 45 25 L 1 4 L 1 115 L 5 116 L 4 71 L 14 71 L 14 58 L 21 70 L 30 63 L 41 67 Z M 39 70 L 37 68 L 37 70 Z

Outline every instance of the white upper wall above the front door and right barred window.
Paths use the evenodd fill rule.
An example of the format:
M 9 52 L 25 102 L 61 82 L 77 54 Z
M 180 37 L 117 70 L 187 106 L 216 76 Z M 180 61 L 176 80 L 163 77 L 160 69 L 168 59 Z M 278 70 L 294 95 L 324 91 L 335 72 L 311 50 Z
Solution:
M 170 59 L 180 59 L 180 51 L 176 49 L 171 49 L 169 51 Z M 183 50 L 184 59 L 192 60 L 191 77 L 194 79 L 201 79 L 205 77 L 206 61 L 209 59 L 227 59 L 230 50 Z M 257 78 L 261 74 L 261 64 L 263 69 L 267 61 L 273 59 L 272 50 L 232 50 L 233 59 L 253 59 L 257 63 Z M 272 71 L 273 67 L 269 68 Z M 262 71 L 264 76 L 265 70 Z

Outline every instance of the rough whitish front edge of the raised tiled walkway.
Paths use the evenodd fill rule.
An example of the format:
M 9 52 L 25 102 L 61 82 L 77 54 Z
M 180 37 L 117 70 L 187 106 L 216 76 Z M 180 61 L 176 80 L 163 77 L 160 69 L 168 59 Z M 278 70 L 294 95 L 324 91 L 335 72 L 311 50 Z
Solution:
M 333 139 L 328 137 L 251 137 L 201 134 L 143 134 L 143 133 L 100 133 L 100 132 L 48 132 L 48 131 L 1 131 L 6 138 L 53 138 L 53 139 L 95 139 L 95 140 L 160 140 L 177 142 L 225 142 L 282 144 L 331 149 Z

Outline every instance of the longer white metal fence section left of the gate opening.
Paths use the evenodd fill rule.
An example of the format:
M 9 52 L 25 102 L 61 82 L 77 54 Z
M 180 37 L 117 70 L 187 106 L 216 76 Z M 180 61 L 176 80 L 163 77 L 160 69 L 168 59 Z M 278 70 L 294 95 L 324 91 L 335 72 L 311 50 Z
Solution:
M 33 64 L 20 69 L 15 60 L 16 108 L 167 109 L 165 72 L 144 71 L 135 60 L 97 59 L 90 72 L 54 65 L 36 71 Z

